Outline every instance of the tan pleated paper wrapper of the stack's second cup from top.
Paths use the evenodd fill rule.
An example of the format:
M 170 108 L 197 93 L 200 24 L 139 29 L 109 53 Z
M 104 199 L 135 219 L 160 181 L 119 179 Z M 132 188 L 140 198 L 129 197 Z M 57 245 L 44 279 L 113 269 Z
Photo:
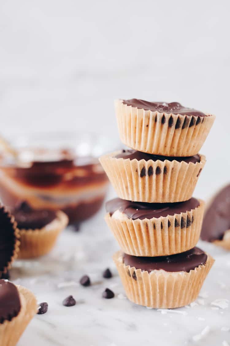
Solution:
M 118 196 L 136 202 L 187 201 L 206 163 L 204 155 L 200 155 L 200 162 L 186 163 L 114 157 L 119 153 L 103 155 L 100 162 Z

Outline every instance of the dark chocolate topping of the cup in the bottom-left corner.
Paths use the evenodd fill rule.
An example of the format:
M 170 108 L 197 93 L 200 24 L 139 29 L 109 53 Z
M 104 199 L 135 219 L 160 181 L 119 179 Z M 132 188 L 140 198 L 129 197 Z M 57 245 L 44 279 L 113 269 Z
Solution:
M 5 280 L 0 280 L 0 324 L 5 320 L 11 321 L 21 309 L 17 287 Z

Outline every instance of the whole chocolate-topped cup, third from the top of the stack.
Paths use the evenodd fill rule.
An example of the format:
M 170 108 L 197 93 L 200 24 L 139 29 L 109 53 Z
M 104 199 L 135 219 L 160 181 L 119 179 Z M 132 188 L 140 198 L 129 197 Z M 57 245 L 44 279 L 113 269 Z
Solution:
M 115 198 L 105 220 L 122 251 L 133 256 L 168 256 L 193 248 L 200 236 L 204 202 L 141 203 Z

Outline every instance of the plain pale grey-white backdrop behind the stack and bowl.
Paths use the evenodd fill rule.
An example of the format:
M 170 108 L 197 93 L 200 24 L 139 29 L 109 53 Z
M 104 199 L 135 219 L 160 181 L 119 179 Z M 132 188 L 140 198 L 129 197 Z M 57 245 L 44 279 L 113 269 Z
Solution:
M 229 181 L 227 2 L 21 0 L 0 8 L 4 136 L 89 129 L 115 148 L 115 98 L 178 101 L 217 116 L 196 195 Z

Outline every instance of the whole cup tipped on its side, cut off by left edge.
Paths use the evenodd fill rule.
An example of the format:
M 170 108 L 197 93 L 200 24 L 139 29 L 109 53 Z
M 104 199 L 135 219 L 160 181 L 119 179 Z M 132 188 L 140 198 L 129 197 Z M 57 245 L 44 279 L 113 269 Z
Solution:
M 0 206 L 0 277 L 11 267 L 19 252 L 19 231 L 14 218 Z

